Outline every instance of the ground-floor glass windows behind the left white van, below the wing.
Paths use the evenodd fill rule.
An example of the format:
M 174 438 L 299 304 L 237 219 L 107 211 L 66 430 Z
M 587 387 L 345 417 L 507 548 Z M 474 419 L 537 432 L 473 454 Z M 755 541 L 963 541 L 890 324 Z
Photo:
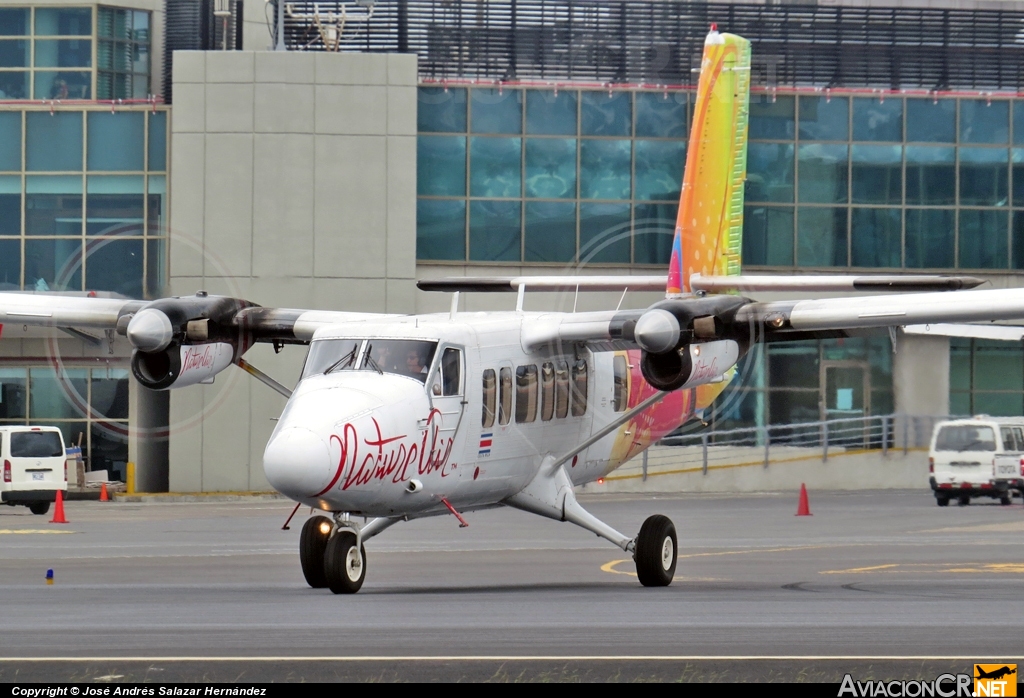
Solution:
M 123 480 L 128 373 L 120 364 L 65 365 L 60 373 L 52 366 L 0 365 L 0 425 L 59 427 L 66 444 L 82 444 L 89 470 L 106 470 Z

